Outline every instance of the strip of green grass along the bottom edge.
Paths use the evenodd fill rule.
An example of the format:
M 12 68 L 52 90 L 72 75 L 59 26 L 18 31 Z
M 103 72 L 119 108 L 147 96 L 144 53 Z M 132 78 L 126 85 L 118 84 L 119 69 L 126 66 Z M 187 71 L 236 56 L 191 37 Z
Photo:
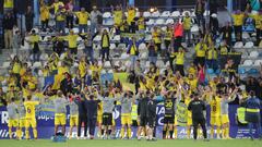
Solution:
M 262 140 L 229 139 L 206 143 L 203 140 L 177 139 L 177 140 L 68 140 L 67 143 L 52 143 L 48 139 L 38 140 L 0 140 L 0 147 L 262 147 Z

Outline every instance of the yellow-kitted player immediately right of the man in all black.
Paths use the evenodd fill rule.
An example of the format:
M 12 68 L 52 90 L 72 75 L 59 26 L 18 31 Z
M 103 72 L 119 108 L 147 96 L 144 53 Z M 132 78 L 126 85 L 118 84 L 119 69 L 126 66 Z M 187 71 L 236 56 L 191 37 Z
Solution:
M 216 96 L 213 91 L 210 98 L 211 106 L 211 138 L 214 138 L 214 130 L 216 126 L 216 138 L 221 138 L 222 121 L 221 121 L 221 101 L 223 91 L 217 91 Z

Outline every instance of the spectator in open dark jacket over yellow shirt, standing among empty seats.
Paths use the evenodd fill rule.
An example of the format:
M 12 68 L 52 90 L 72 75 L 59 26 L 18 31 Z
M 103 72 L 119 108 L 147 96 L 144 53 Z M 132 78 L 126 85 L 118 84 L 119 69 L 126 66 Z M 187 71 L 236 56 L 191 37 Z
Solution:
M 109 61 L 109 46 L 110 37 L 107 29 L 104 29 L 102 34 L 102 62 L 105 62 L 105 58 L 107 61 Z

